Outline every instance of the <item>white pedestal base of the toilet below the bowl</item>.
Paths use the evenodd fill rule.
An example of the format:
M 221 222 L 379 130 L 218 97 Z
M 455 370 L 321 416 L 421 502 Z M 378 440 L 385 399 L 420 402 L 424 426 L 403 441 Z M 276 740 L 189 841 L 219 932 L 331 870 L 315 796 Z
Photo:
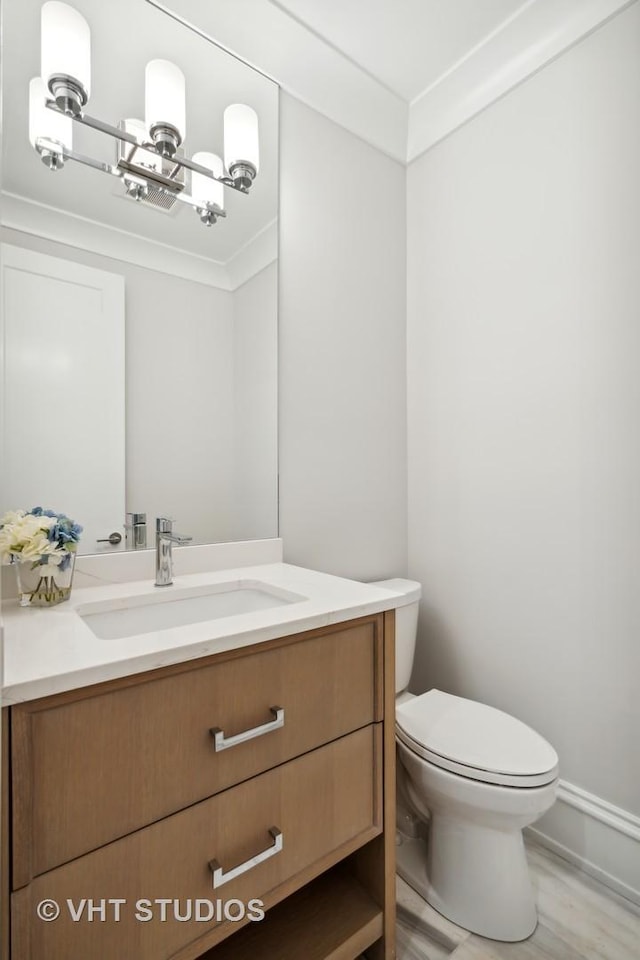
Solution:
M 435 844 L 398 832 L 399 876 L 464 930 L 491 940 L 526 940 L 538 917 L 522 832 L 472 833 L 475 836 L 470 838 L 468 830 L 460 832 L 455 820 L 437 816 L 429 830 Z

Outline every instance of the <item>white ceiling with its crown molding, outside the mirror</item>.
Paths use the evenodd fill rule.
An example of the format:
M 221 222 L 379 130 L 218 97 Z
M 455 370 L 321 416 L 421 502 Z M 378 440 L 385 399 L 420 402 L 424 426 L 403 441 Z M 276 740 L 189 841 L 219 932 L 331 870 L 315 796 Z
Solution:
M 640 0 L 147 2 L 410 163 Z

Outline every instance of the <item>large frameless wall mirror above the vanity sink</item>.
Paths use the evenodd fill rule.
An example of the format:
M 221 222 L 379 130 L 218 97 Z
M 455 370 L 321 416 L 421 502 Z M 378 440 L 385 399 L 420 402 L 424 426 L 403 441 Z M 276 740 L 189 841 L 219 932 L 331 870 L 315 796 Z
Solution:
M 170 61 L 184 157 L 223 156 L 240 103 L 257 114 L 259 170 L 246 195 L 224 188 L 212 225 L 74 159 L 52 171 L 29 131 L 42 2 L 4 0 L 0 514 L 63 511 L 85 527 L 81 553 L 133 547 L 128 513 L 146 514 L 148 546 L 157 516 L 194 543 L 277 536 L 277 85 L 152 3 L 70 6 L 91 31 L 84 115 L 144 120 L 145 67 Z M 69 124 L 74 153 L 116 164 L 117 141 Z

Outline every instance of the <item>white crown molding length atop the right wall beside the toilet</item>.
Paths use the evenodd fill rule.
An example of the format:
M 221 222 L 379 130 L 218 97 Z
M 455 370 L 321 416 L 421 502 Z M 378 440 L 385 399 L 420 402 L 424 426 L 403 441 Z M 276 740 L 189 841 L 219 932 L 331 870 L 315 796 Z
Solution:
M 636 0 L 529 0 L 409 108 L 407 162 Z

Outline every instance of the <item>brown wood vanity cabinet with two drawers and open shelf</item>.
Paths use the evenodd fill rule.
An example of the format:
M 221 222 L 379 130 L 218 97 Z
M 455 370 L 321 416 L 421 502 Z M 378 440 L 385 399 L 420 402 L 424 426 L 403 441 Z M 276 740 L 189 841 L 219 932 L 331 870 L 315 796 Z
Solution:
M 2 960 L 391 960 L 394 699 L 390 612 L 6 708 Z

